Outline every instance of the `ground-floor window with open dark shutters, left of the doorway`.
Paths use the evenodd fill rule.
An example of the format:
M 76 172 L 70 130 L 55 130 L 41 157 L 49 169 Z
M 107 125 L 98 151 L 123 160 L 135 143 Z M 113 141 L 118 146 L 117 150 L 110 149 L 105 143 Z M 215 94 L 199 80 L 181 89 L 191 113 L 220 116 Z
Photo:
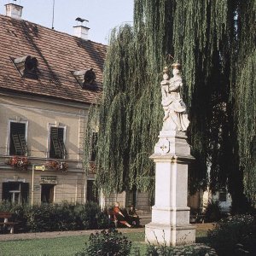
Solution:
M 11 203 L 25 203 L 28 201 L 28 183 L 3 183 L 2 199 Z

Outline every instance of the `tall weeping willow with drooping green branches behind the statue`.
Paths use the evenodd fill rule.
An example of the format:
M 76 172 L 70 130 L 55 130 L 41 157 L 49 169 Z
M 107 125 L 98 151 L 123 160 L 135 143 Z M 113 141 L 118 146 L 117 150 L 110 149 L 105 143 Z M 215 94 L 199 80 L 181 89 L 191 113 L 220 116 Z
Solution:
M 212 190 L 228 186 L 235 211 L 247 199 L 256 201 L 255 5 L 255 0 L 135 0 L 134 26 L 113 30 L 105 64 L 96 158 L 103 189 L 152 189 L 148 156 L 163 118 L 160 74 L 169 64 L 166 54 L 172 54 L 183 65 L 196 158 L 190 188 L 208 180 Z M 85 148 L 85 158 L 88 152 Z

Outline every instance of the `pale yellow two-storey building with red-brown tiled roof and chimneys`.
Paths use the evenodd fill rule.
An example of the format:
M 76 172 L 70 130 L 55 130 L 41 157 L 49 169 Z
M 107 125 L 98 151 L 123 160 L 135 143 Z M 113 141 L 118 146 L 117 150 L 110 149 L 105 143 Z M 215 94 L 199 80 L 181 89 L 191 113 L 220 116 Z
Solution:
M 107 47 L 0 15 L 0 201 L 94 200 L 84 175 L 84 127 L 102 91 Z

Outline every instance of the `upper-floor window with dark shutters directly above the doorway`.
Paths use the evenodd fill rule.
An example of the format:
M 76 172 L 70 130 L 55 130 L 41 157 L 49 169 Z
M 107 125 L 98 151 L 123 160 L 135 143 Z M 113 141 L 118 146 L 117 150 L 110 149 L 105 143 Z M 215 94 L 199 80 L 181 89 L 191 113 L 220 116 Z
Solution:
M 67 155 L 64 144 L 64 128 L 50 127 L 49 157 L 63 159 Z

